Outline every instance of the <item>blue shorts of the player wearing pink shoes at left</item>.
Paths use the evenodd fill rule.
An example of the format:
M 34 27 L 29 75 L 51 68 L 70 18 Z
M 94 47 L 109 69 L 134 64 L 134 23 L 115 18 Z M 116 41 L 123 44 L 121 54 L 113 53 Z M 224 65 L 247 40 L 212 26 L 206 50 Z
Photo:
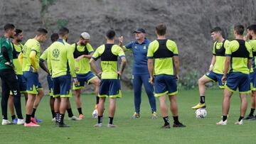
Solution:
M 42 89 L 41 83 L 38 80 L 38 73 L 23 72 L 23 77 L 26 81 L 26 92 L 28 94 L 38 94 L 38 90 Z

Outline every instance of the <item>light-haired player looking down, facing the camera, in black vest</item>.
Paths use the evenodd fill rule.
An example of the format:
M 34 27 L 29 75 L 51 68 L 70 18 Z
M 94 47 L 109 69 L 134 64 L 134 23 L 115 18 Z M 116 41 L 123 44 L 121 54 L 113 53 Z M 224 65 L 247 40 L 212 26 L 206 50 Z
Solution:
M 92 57 L 94 50 L 90 45 L 90 35 L 89 33 L 83 32 L 80 35 L 78 43 L 74 43 L 73 55 L 75 58 L 75 73 L 78 78 L 78 85 L 73 84 L 73 89 L 75 89 L 75 102 L 78 106 L 79 118 L 84 118 L 82 114 L 82 102 L 80 100 L 81 90 L 87 84 L 93 84 L 95 86 L 95 95 L 96 95 L 96 105 L 95 109 L 97 110 L 97 104 L 99 104 L 99 87 L 100 79 L 95 76 L 90 70 L 89 60 Z

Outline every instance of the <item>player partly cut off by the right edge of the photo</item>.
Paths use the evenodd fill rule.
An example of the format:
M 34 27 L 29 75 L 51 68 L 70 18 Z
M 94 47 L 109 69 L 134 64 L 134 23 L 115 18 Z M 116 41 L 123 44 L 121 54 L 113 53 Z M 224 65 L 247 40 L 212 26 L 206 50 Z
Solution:
M 250 82 L 251 82 L 251 110 L 249 115 L 245 120 L 256 120 L 254 116 L 255 106 L 256 106 L 256 67 L 255 67 L 255 57 L 256 57 L 256 24 L 251 25 L 247 28 L 247 38 L 249 39 L 248 43 L 252 47 L 252 67 L 250 69 Z

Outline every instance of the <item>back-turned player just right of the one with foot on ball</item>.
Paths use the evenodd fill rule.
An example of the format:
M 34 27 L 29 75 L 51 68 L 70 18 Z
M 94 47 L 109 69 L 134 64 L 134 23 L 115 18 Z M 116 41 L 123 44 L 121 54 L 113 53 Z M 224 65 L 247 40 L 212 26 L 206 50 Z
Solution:
M 225 50 L 225 68 L 222 81 L 225 83 L 223 93 L 223 119 L 216 123 L 217 125 L 226 125 L 228 123 L 228 111 L 230 109 L 230 99 L 233 92 L 239 89 L 240 92 L 240 117 L 236 125 L 243 124 L 243 118 L 247 109 L 247 94 L 250 94 L 250 67 L 252 66 L 252 48 L 242 38 L 244 26 L 234 27 L 235 40 L 232 40 Z M 230 72 L 228 74 L 228 70 Z M 228 74 L 228 77 L 227 77 Z

